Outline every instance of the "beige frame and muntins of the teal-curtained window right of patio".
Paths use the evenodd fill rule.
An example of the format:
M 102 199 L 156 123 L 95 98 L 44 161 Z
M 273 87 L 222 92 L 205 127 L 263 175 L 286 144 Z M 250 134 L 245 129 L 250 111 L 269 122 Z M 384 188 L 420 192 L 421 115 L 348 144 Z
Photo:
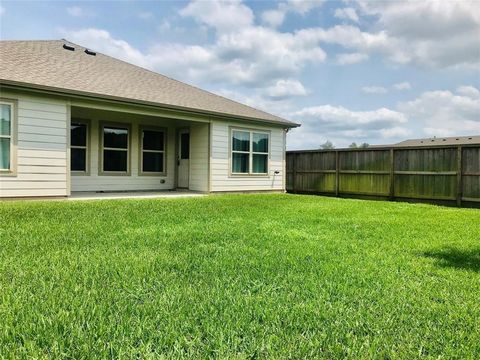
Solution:
M 249 150 L 248 151 L 239 151 L 233 150 L 233 132 L 242 131 L 249 133 Z M 268 138 L 268 149 L 267 152 L 258 152 L 253 151 L 253 134 L 262 134 L 267 135 Z M 242 128 L 242 127 L 230 127 L 229 131 L 229 177 L 270 177 L 270 156 L 271 156 L 271 131 L 265 129 L 256 129 L 256 128 Z M 239 154 L 248 154 L 248 172 L 246 173 L 237 173 L 233 172 L 233 153 Z M 253 170 L 253 155 L 267 155 L 267 172 L 265 173 L 254 173 Z

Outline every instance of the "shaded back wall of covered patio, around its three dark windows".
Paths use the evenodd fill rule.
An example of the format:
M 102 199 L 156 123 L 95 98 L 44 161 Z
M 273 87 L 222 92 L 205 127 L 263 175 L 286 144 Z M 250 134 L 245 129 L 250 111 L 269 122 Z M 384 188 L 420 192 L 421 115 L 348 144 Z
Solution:
M 89 122 L 89 175 L 72 173 L 72 191 L 134 191 L 168 190 L 175 187 L 175 127 L 172 120 L 135 114 L 72 108 L 72 119 Z M 130 126 L 130 175 L 99 175 L 101 122 L 125 123 Z M 165 175 L 140 175 L 140 126 L 155 126 L 166 130 Z M 163 183 L 162 183 L 163 182 Z

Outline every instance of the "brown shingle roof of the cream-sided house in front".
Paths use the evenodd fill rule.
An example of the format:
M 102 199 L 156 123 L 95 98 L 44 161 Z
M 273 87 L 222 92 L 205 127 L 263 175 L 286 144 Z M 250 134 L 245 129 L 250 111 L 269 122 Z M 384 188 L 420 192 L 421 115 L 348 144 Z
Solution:
M 75 48 L 65 49 L 64 44 Z M 299 126 L 66 40 L 0 41 L 0 83 Z

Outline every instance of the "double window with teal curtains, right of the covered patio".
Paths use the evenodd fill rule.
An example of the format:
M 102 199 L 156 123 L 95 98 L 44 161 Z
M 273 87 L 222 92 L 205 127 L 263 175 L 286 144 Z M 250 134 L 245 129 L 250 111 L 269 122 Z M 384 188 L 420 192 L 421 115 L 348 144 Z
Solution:
M 232 130 L 232 174 L 267 174 L 268 141 L 268 133 Z

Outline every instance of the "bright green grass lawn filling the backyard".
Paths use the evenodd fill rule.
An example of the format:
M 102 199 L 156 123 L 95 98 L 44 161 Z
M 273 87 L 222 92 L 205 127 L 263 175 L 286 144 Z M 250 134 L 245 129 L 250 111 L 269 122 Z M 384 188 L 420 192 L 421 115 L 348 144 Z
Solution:
M 479 358 L 480 210 L 0 203 L 0 357 Z

